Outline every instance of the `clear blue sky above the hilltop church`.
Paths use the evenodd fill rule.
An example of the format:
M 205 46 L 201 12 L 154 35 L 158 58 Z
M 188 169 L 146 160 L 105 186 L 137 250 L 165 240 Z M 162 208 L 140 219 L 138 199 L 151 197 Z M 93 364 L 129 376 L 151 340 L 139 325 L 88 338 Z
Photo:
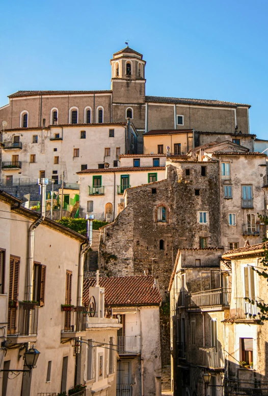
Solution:
M 252 105 L 268 139 L 268 2 L 2 2 L 0 106 L 17 90 L 110 89 L 113 52 L 144 55 L 146 94 Z

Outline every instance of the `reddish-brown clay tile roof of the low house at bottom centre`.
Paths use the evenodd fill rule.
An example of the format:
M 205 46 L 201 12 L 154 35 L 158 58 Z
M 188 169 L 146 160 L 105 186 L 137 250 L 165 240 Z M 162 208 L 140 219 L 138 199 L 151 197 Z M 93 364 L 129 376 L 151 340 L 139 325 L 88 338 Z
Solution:
M 84 305 L 89 301 L 89 287 L 95 285 L 96 278 L 84 279 Z M 154 277 L 151 275 L 99 278 L 99 285 L 104 287 L 108 305 L 160 305 L 162 301 L 159 289 L 154 287 Z

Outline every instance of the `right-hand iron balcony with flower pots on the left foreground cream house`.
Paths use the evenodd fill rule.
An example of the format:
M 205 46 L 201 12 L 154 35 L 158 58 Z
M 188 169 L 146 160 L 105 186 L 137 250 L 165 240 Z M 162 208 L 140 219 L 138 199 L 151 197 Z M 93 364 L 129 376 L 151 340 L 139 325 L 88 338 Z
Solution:
M 77 306 L 70 311 L 64 312 L 64 329 L 62 338 L 71 338 L 79 336 L 79 333 L 86 331 L 87 308 Z

